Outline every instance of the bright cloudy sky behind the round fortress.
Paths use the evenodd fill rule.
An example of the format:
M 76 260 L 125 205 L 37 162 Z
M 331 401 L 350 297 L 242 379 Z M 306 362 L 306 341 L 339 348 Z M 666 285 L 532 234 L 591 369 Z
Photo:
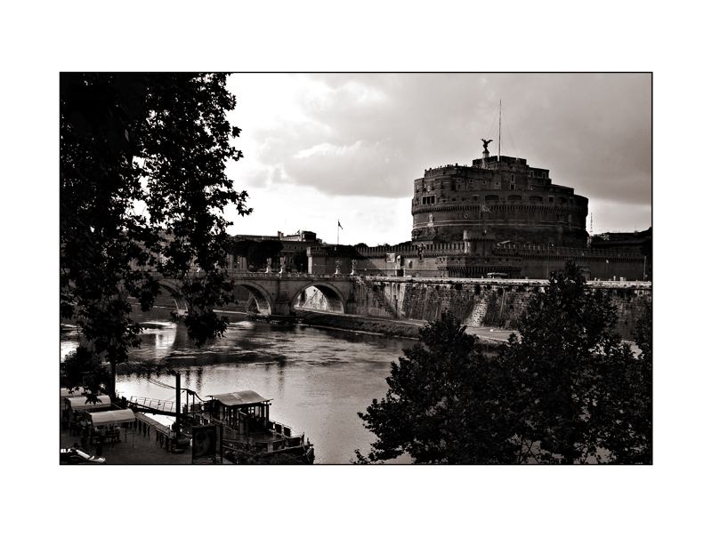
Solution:
M 254 212 L 231 233 L 315 231 L 342 244 L 409 240 L 413 180 L 502 154 L 589 198 L 594 232 L 651 225 L 651 78 L 636 74 L 236 74 L 235 187 Z

